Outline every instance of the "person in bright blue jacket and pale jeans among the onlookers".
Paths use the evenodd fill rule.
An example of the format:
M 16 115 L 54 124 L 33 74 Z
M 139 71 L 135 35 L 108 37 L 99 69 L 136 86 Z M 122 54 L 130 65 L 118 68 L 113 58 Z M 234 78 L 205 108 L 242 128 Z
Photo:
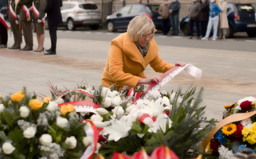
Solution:
M 209 9 L 210 9 L 209 21 L 208 21 L 208 25 L 207 25 L 206 35 L 204 37 L 202 37 L 201 40 L 208 40 L 210 32 L 211 32 L 211 28 L 213 26 L 212 41 L 215 41 L 216 37 L 217 37 L 218 24 L 219 24 L 218 13 L 221 12 L 221 9 L 219 8 L 219 6 L 215 0 L 210 0 Z

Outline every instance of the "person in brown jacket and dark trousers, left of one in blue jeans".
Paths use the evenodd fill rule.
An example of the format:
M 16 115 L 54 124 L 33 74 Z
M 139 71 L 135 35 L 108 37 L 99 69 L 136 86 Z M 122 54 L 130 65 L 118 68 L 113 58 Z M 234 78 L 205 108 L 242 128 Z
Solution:
M 164 35 L 167 35 L 169 32 L 169 5 L 167 0 L 164 0 L 164 3 L 160 5 L 158 13 L 163 19 L 162 31 Z

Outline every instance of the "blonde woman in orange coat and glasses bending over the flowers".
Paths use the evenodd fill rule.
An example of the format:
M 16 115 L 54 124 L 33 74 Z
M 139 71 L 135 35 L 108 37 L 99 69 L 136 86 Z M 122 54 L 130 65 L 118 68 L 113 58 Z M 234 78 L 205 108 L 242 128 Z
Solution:
M 127 32 L 111 41 L 106 67 L 101 84 L 109 87 L 110 83 L 121 89 L 124 85 L 136 87 L 162 81 L 159 76 L 146 77 L 143 73 L 150 65 L 155 72 L 165 73 L 174 66 L 185 66 L 184 62 L 175 65 L 164 62 L 158 55 L 158 46 L 153 39 L 155 25 L 148 16 L 140 15 L 131 20 Z

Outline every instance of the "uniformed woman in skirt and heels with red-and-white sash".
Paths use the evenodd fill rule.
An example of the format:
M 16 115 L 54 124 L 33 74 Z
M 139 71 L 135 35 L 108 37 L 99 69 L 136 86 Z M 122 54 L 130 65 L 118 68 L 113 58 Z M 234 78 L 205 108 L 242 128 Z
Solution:
M 44 20 L 45 12 L 43 11 L 46 7 L 46 0 L 35 0 L 33 7 L 33 32 L 37 33 L 37 42 L 38 47 L 36 52 L 44 52 L 44 41 L 45 41 L 45 32 L 44 32 Z M 43 22 L 42 22 L 43 21 Z

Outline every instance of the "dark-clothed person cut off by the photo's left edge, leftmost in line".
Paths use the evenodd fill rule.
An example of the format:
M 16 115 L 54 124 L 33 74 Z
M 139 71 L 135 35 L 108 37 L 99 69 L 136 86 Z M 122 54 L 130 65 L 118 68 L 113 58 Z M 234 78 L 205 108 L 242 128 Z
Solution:
M 4 20 L 8 22 L 6 0 L 0 0 L 0 13 L 3 15 Z M 6 48 L 7 41 L 8 41 L 7 28 L 5 27 L 4 22 L 2 22 L 1 20 L 0 20 L 0 36 L 1 36 L 0 48 Z

